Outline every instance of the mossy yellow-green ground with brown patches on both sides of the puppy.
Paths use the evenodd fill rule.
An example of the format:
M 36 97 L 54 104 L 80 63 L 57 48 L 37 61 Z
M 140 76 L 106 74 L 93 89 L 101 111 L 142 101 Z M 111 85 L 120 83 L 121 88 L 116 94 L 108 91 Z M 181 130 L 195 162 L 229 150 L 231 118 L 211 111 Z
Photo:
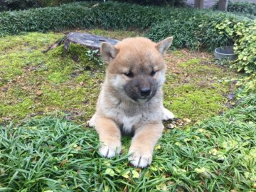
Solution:
M 110 38 L 139 36 L 130 31 L 85 31 Z M 46 114 L 66 114 L 85 124 L 95 112 L 105 66 L 87 55 L 87 48 L 71 44 L 43 53 L 63 33 L 26 33 L 0 39 L 0 123 L 20 122 Z M 208 53 L 176 50 L 166 55 L 164 103 L 176 117 L 192 122 L 223 112 L 233 78 L 228 68 L 213 64 Z

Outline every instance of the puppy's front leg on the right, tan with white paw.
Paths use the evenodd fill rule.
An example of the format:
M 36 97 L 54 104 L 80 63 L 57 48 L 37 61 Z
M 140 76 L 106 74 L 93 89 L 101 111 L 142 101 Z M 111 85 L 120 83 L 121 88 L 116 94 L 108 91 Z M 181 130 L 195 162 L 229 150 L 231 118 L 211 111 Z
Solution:
M 129 148 L 129 161 L 134 166 L 146 167 L 151 164 L 154 146 L 161 137 L 164 126 L 161 123 L 146 124 L 135 132 Z

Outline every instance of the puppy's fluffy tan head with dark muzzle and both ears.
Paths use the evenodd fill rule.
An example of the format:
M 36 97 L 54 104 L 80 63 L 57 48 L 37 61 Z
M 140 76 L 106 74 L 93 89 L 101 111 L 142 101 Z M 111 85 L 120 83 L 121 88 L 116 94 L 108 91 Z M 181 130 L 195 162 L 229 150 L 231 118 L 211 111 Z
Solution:
M 172 39 L 154 43 L 148 38 L 127 38 L 116 46 L 102 43 L 106 80 L 116 95 L 134 102 L 148 102 L 154 97 L 165 80 L 163 55 Z

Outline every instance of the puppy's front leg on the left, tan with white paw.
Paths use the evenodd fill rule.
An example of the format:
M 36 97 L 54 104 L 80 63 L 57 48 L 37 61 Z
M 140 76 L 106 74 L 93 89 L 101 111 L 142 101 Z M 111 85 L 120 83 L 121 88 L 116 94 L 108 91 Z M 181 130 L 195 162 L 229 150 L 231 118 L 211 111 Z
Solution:
M 102 156 L 111 158 L 121 152 L 121 132 L 112 119 L 97 116 L 95 129 L 100 137 L 99 152 Z

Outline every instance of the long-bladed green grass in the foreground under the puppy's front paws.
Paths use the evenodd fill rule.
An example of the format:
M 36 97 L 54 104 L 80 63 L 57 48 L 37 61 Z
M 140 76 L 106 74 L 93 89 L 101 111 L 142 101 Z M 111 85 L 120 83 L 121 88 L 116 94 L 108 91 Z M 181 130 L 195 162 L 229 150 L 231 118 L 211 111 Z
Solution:
M 164 132 L 146 169 L 104 159 L 94 129 L 43 117 L 0 129 L 0 191 L 253 191 L 256 95 L 223 116 Z

